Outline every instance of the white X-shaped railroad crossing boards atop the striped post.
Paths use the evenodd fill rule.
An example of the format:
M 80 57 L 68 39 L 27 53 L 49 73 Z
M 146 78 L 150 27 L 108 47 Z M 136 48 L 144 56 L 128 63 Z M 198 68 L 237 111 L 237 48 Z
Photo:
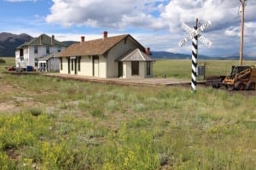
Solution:
M 203 24 L 197 30 L 195 30 L 193 28 L 190 28 L 185 23 L 183 23 L 181 27 L 184 31 L 187 31 L 189 33 L 189 35 L 187 37 L 184 37 L 183 40 L 181 40 L 180 42 L 178 42 L 178 46 L 182 47 L 186 42 L 189 42 L 190 40 L 192 40 L 193 37 L 198 36 L 199 41 L 201 41 L 208 48 L 210 48 L 212 46 L 212 42 L 210 40 L 208 40 L 206 37 L 201 36 L 201 32 L 204 31 L 207 27 L 209 27 L 211 25 L 212 25 L 211 21 L 208 20 L 205 24 Z

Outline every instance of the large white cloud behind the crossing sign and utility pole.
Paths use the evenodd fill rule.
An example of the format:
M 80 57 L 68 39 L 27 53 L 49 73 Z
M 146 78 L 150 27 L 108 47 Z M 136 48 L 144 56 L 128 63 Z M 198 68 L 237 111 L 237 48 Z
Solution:
M 256 17 L 254 10 L 256 1 L 249 1 L 245 10 L 245 51 L 250 51 L 255 47 L 253 43 L 255 36 Z M 239 14 L 240 1 L 230 0 L 172 0 L 168 3 L 164 11 L 160 14 L 161 18 L 166 20 L 171 34 L 179 35 L 179 38 L 173 37 L 173 41 L 179 41 L 187 35 L 180 28 L 181 23 L 185 22 L 190 27 L 195 26 L 195 18 L 201 23 L 206 20 L 212 21 L 212 26 L 202 32 L 202 35 L 212 41 L 212 48 L 206 48 L 199 42 L 199 52 L 207 55 L 216 54 L 238 54 L 240 44 L 241 20 Z M 253 40 L 254 39 L 254 40 Z M 189 42 L 188 42 L 189 44 Z M 169 48 L 173 51 L 182 51 L 189 53 L 189 48 L 177 48 L 175 44 L 170 44 Z M 252 54 L 252 53 L 251 53 Z

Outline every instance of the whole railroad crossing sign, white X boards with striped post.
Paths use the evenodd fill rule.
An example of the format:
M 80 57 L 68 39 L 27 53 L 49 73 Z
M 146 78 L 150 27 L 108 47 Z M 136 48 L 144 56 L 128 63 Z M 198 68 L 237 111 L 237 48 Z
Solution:
M 186 42 L 192 40 L 192 72 L 191 72 L 191 88 L 196 93 L 196 82 L 197 82 L 197 55 L 198 55 L 198 40 L 204 43 L 208 48 L 212 46 L 212 42 L 206 37 L 201 36 L 201 32 L 207 27 L 211 26 L 211 21 L 208 20 L 205 24 L 198 28 L 198 19 L 195 20 L 195 27 L 190 28 L 185 23 L 182 24 L 184 31 L 187 31 L 189 35 L 184 37 L 183 40 L 178 42 L 179 47 L 182 47 Z

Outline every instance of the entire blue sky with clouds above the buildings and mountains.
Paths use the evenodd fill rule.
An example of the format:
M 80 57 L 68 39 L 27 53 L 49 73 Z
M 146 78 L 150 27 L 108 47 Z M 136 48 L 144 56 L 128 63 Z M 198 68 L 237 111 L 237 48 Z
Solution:
M 238 55 L 240 48 L 240 0 L 0 0 L 0 32 L 45 33 L 59 41 L 79 41 L 131 34 L 153 51 L 191 54 L 191 42 L 178 46 L 189 34 L 182 23 L 199 26 L 212 42 L 199 42 L 199 54 Z M 256 57 L 256 0 L 246 0 L 244 54 Z

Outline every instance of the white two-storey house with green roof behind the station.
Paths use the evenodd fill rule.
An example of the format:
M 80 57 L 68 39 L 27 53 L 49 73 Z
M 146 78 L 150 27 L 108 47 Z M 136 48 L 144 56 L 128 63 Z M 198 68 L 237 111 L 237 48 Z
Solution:
M 65 48 L 67 45 L 55 40 L 55 36 L 42 34 L 15 49 L 15 65 L 18 68 L 32 66 L 40 71 L 58 71 L 60 60 L 55 58 L 55 54 Z

